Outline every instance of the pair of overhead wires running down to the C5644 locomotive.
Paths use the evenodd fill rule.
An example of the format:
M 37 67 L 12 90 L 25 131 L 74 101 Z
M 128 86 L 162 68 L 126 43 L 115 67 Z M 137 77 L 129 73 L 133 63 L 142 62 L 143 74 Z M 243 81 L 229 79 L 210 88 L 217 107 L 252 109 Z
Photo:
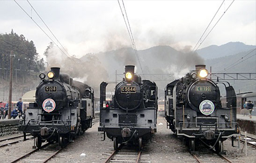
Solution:
M 122 1 L 123 1 L 123 0 L 122 0 Z M 125 23 L 126 29 L 127 29 L 127 31 L 128 31 L 129 37 L 130 37 L 130 39 L 131 39 L 131 41 L 132 41 L 132 47 L 133 47 L 133 49 L 134 49 L 135 56 L 136 56 L 136 58 L 137 58 L 137 60 L 138 60 L 138 62 L 139 62 L 140 70 L 141 70 L 142 74 L 144 74 L 144 72 L 143 72 L 143 70 L 142 70 L 141 62 L 140 62 L 140 60 L 139 60 L 138 51 L 137 51 L 137 48 L 136 48 L 136 45 L 135 45 L 135 42 L 134 42 L 134 39 L 133 39 L 132 30 L 131 30 L 131 26 L 130 26 L 130 23 L 129 23 L 129 20 L 128 20 L 128 16 L 127 16 L 125 7 L 124 7 L 124 12 L 125 12 L 125 14 L 126 14 L 126 18 L 127 18 L 127 22 L 128 22 L 128 25 L 129 25 L 130 30 L 129 30 L 128 26 L 127 26 L 127 23 L 126 23 L 126 20 L 125 20 L 125 17 L 124 17 L 124 12 L 123 12 L 123 10 L 122 10 L 122 7 L 121 7 L 121 5 L 120 5 L 119 0 L 117 0 L 117 2 L 118 2 L 118 4 L 119 4 L 121 13 L 122 13 L 122 15 L 123 15 L 124 23 Z M 123 1 L 123 5 L 124 5 L 124 1 Z

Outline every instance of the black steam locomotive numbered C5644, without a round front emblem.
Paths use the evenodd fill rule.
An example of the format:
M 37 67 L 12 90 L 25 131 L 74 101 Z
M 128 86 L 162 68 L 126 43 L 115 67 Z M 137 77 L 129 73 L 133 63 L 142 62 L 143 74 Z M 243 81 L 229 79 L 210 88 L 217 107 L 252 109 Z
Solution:
M 143 80 L 134 73 L 134 66 L 125 66 L 125 78 L 116 85 L 112 101 L 106 102 L 106 86 L 100 85 L 100 126 L 99 131 L 114 142 L 139 144 L 151 138 L 156 132 L 157 86 Z

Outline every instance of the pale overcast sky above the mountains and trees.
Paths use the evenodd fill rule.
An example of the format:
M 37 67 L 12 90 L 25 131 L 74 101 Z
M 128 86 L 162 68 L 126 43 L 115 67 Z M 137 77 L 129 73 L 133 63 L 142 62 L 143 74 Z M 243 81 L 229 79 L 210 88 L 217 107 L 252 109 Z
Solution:
M 31 13 L 27 1 L 17 2 L 50 34 L 36 13 Z M 29 2 L 71 55 L 81 57 L 87 53 L 132 47 L 117 0 Z M 231 2 L 225 0 L 212 26 Z M 124 1 L 138 49 L 157 45 L 194 47 L 221 3 L 222 0 Z M 37 52 L 43 56 L 50 39 L 15 1 L 0 0 L 0 15 L 0 34 L 14 29 L 29 41 L 33 40 Z M 256 0 L 235 0 L 201 48 L 229 41 L 256 44 Z

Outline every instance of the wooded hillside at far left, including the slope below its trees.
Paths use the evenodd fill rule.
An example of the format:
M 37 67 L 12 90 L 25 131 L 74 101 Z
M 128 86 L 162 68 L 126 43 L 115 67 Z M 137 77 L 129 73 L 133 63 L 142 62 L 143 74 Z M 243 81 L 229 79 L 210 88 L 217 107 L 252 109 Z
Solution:
M 7 102 L 10 78 L 10 54 L 13 51 L 13 100 L 37 87 L 38 73 L 44 71 L 44 60 L 40 59 L 33 41 L 13 30 L 0 34 L 0 101 Z

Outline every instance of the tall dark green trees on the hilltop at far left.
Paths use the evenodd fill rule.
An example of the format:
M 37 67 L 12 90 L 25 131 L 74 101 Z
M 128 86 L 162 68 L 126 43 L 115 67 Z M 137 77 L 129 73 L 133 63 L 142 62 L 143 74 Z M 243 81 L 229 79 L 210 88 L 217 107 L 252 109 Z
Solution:
M 29 72 L 44 70 L 44 60 L 38 58 L 34 42 L 12 30 L 10 34 L 0 34 L 0 76 L 4 80 L 9 78 L 11 51 L 14 54 L 13 69 L 18 69 L 18 78 L 27 78 L 31 75 Z

